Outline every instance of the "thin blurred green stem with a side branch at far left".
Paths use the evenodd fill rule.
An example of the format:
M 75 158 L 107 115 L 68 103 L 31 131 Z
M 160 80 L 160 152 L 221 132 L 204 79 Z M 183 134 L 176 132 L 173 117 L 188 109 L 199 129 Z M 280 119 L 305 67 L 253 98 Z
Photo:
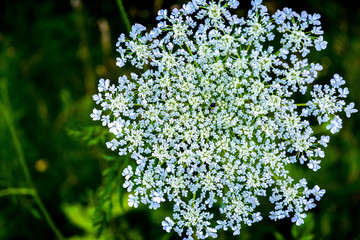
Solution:
M 26 182 L 30 187 L 30 189 L 28 189 L 28 188 L 11 189 L 10 188 L 10 189 L 2 190 L 0 193 L 5 194 L 5 195 L 9 195 L 11 192 L 13 192 L 13 194 L 30 194 L 30 195 L 33 195 L 36 204 L 38 205 L 38 207 L 39 207 L 41 213 L 43 214 L 46 222 L 49 224 L 50 228 L 54 231 L 56 237 L 58 239 L 60 239 L 60 240 L 64 240 L 65 238 L 63 237 L 63 235 L 61 234 L 61 232 L 59 231 L 59 229 L 56 227 L 55 223 L 51 219 L 51 216 L 50 216 L 49 212 L 46 210 L 44 204 L 41 201 L 39 193 L 36 191 L 35 185 L 33 184 L 32 180 L 31 180 L 29 169 L 28 169 L 28 167 L 26 165 L 24 152 L 22 150 L 20 141 L 19 141 L 19 139 L 18 139 L 18 137 L 16 135 L 15 127 L 13 125 L 13 122 L 11 121 L 10 115 L 9 115 L 6 107 L 1 102 L 0 102 L 0 110 L 2 112 L 2 115 L 3 115 L 4 119 L 5 119 L 6 124 L 9 127 L 10 134 L 11 134 L 12 140 L 14 142 L 17 155 L 19 157 L 19 162 L 20 162 L 21 168 L 22 168 L 22 170 L 24 172 Z M 1 196 L 1 194 L 0 194 L 0 196 Z

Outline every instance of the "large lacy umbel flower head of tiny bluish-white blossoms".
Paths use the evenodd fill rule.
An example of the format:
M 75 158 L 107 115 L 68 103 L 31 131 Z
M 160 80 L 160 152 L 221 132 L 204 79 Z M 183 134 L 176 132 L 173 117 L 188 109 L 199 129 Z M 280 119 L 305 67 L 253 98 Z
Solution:
M 338 74 L 313 84 L 322 67 L 306 56 L 327 44 L 320 15 L 251 4 L 239 18 L 236 0 L 193 0 L 160 10 L 151 31 L 135 24 L 119 37 L 117 65 L 138 72 L 101 79 L 93 96 L 91 117 L 114 134 L 107 147 L 133 159 L 122 172 L 129 206 L 172 203 L 163 228 L 186 239 L 240 234 L 263 219 L 261 198 L 274 205 L 270 219 L 301 225 L 325 190 L 295 181 L 288 165 L 317 171 L 329 136 L 314 125 L 334 134 L 339 113 L 357 112 Z

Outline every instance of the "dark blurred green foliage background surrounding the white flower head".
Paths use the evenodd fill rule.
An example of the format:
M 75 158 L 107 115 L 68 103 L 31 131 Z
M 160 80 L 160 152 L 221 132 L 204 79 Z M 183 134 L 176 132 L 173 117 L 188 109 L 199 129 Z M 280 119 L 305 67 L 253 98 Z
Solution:
M 131 24 L 152 27 L 159 9 L 184 2 L 123 4 Z M 360 3 L 351 2 L 268 0 L 265 5 L 271 13 L 291 7 L 321 14 L 328 48 L 310 60 L 324 67 L 320 82 L 342 75 L 348 102 L 359 108 Z M 249 7 L 250 1 L 240 1 L 239 14 Z M 119 184 L 107 183 L 121 185 L 120 161 L 105 148 L 104 129 L 89 117 L 98 79 L 116 82 L 129 71 L 115 65 L 115 43 L 124 31 L 116 0 L 0 0 L 0 239 L 56 239 L 41 206 L 69 239 L 96 239 L 94 217 L 102 239 L 178 239 L 161 227 L 169 209 L 130 209 Z M 265 217 L 244 227 L 239 237 L 220 233 L 219 239 L 360 239 L 359 123 L 358 113 L 344 119 L 343 130 L 331 136 L 322 168 L 299 172 L 310 186 L 327 191 L 305 225 Z M 112 176 L 103 180 L 108 168 Z

